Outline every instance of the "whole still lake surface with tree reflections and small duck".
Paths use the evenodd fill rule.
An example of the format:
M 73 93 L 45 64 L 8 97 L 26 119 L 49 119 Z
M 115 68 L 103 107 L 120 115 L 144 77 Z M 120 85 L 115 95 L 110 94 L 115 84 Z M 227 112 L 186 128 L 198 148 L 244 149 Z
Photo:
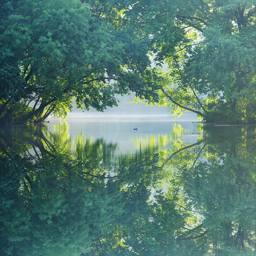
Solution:
M 198 121 L 1 126 L 0 255 L 255 255 L 255 126 Z

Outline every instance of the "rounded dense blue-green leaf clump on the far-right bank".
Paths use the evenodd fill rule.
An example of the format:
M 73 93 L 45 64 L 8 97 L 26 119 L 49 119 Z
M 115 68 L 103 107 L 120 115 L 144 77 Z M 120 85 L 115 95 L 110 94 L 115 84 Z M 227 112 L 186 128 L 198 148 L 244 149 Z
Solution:
M 225 35 L 220 33 L 219 28 L 211 28 L 205 33 L 202 45 L 195 47 L 185 62 L 184 76 L 181 77 L 180 83 L 190 81 L 197 92 L 206 94 L 206 109 L 217 110 L 219 113 L 227 111 L 227 115 L 231 115 L 230 111 L 233 111 L 236 116 L 233 122 L 227 115 L 221 117 L 219 122 L 241 123 L 246 119 L 242 113 L 246 111 L 246 106 L 244 104 L 243 110 L 241 105 L 237 106 L 237 102 L 255 99 L 256 70 L 253 52 L 254 49 L 251 49 L 247 42 L 243 42 L 240 35 Z M 248 105 L 252 106 L 251 103 Z M 255 109 L 249 106 L 250 110 L 246 111 L 246 116 L 250 117 L 247 121 L 254 123 Z M 210 116 L 205 118 L 214 123 L 218 122 L 211 120 Z

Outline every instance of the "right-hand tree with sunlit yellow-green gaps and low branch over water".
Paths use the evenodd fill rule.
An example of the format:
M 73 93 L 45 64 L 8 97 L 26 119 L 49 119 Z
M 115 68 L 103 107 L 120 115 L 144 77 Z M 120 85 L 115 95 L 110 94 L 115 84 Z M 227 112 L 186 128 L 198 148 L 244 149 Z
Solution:
M 253 1 L 130 4 L 130 22 L 169 67 L 157 81 L 160 104 L 209 123 L 256 123 Z

